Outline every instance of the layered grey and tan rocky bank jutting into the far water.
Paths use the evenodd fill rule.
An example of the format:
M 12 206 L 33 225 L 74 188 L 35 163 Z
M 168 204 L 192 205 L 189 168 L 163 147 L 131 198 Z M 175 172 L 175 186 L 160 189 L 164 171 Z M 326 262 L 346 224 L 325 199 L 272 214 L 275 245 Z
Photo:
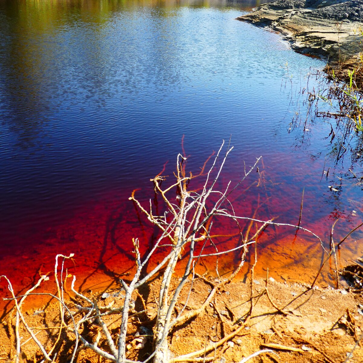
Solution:
M 237 18 L 284 34 L 301 52 L 354 61 L 363 48 L 363 0 L 276 0 Z

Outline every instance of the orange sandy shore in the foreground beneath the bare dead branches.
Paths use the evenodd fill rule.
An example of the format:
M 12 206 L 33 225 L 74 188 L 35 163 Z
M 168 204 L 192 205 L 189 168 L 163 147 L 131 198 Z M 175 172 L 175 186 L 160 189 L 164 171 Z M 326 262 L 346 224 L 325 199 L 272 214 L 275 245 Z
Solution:
M 181 304 L 178 309 L 184 303 L 187 304 L 188 310 L 201 306 L 204 297 L 211 289 L 210 285 L 215 282 L 216 279 L 196 278 L 190 295 L 188 290 L 191 286 L 188 282 L 187 289 L 181 293 Z M 70 282 L 67 283 L 69 284 Z M 140 291 L 143 298 L 134 296 L 135 306 L 132 312 L 135 315 L 138 314 L 139 319 L 130 320 L 127 359 L 140 360 L 140 357 L 143 357 L 141 359 L 143 360 L 150 354 L 151 329 L 156 302 L 154 295 L 149 294 L 148 291 L 158 290 L 159 284 L 160 278 L 150 282 L 147 290 Z M 179 279 L 174 277 L 172 289 L 175 289 L 178 284 Z M 104 294 L 106 298 L 101 297 Z M 123 294 L 120 286 L 115 286 L 105 288 L 98 293 L 89 290 L 86 296 L 96 299 L 101 307 L 112 304 L 114 301 L 113 306 L 116 308 L 122 306 Z M 74 302 L 79 303 L 73 295 L 71 297 L 67 294 L 67 305 L 76 311 Z M 363 359 L 363 349 L 357 346 L 356 342 L 363 329 L 362 303 L 361 294 L 350 289 L 348 291 L 342 288 L 332 289 L 321 285 L 308 289 L 302 284 L 287 284 L 274 281 L 272 278 L 265 280 L 257 278 L 252 281 L 248 278 L 242 284 L 237 281 L 232 282 L 218 289 L 213 301 L 205 306 L 200 315 L 178 326 L 172 332 L 168 338 L 170 355 L 174 358 L 203 350 L 206 346 L 205 342 L 213 344 L 217 340 L 231 336 L 218 349 L 207 352 L 205 361 L 237 363 L 257 351 L 268 348 L 269 352 L 263 353 L 263 362 L 335 363 L 342 362 L 351 355 L 349 362 L 359 363 Z M 31 326 L 36 327 L 34 329 L 38 328 L 37 331 L 42 331 L 37 337 L 43 344 L 46 344 L 48 339 L 49 341 L 56 339 L 58 331 L 43 330 L 43 326 L 44 322 L 48 326 L 57 326 L 59 320 L 57 301 L 44 302 L 44 305 L 37 309 L 29 309 L 25 316 Z M 104 318 L 107 325 L 113 331 L 118 331 L 117 315 L 108 316 Z M 4 342 L 3 359 L 14 355 L 15 335 L 10 333 L 14 323 L 15 314 L 4 319 L 0 328 L 0 341 Z M 95 340 L 99 331 L 96 325 L 89 332 L 85 329 L 83 334 Z M 140 331 L 147 334 L 144 335 L 143 340 L 138 340 Z M 238 333 L 234 335 L 233 332 L 236 331 Z M 25 341 L 29 334 L 23 327 L 20 327 L 20 333 Z M 73 335 L 70 331 L 63 334 L 64 340 L 58 346 L 57 361 L 59 362 L 68 361 L 72 354 Z M 98 336 L 101 337 L 100 334 Z M 103 340 L 104 337 L 100 342 Z M 30 362 L 32 357 L 40 360 L 42 356 L 38 350 L 34 342 L 25 343 L 21 350 L 23 362 Z M 169 360 L 169 362 L 172 361 L 172 359 Z M 77 353 L 77 362 L 97 363 L 99 356 L 90 349 L 83 348 Z

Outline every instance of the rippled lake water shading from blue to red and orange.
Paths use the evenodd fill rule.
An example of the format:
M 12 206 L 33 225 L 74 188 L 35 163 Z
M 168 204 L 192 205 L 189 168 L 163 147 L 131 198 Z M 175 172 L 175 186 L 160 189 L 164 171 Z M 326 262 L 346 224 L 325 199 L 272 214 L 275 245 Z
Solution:
M 183 135 L 193 171 L 232 135 L 224 182 L 263 156 L 264 186 L 242 193 L 251 177 L 234 196 L 237 214 L 252 216 L 260 196 L 259 218 L 297 224 L 305 188 L 302 226 L 326 246 L 337 217 L 337 240 L 362 220 L 362 185 L 348 172 L 362 172 L 361 143 L 337 162 L 330 124 L 306 116 L 303 90 L 321 81 L 307 74 L 324 62 L 234 20 L 254 6 L 0 0 L 0 274 L 20 289 L 70 252 L 81 279 L 122 273 L 131 238 L 148 243 L 154 233 L 128 197 L 134 188 L 153 197 L 149 180 L 167 161 L 172 174 Z M 294 233 L 261 237 L 261 274 L 311 280 L 322 249 Z M 362 256 L 361 238 L 344 246 L 342 264 Z

